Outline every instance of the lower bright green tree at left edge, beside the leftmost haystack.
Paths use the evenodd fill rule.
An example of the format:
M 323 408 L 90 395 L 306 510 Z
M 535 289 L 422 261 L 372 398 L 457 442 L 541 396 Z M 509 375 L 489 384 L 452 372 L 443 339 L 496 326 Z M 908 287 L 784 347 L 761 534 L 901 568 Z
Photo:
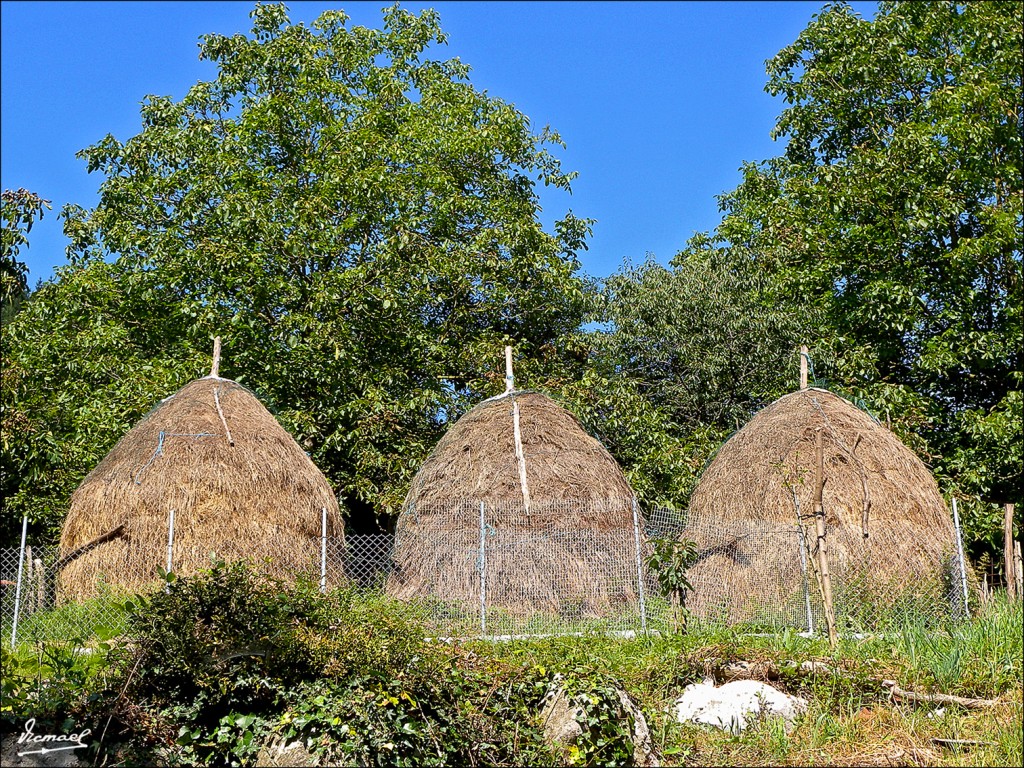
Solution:
M 85 474 L 209 365 L 180 344 L 187 318 L 129 285 L 102 260 L 62 267 L 0 331 L 0 546 L 16 546 L 24 514 L 54 535 Z

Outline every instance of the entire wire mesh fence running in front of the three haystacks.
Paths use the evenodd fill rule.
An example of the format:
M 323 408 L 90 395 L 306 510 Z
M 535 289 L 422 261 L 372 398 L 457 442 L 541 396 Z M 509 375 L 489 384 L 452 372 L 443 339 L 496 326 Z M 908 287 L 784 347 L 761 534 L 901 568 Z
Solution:
M 634 521 L 635 520 L 635 521 Z M 890 527 L 869 540 L 826 531 L 837 622 L 864 632 L 893 621 L 966 615 L 955 542 L 948 555 L 914 554 L 927 531 Z M 678 630 L 743 624 L 768 631 L 822 632 L 824 611 L 807 531 L 792 524 L 690 519 L 649 508 L 633 516 L 620 502 L 558 502 L 407 510 L 397 535 L 311 539 L 300 560 L 292 543 L 287 563 L 273 542 L 232 542 L 232 556 L 270 575 L 303 577 L 325 590 L 341 586 L 386 591 L 420 606 L 435 636 L 534 636 Z M 692 590 L 679 605 L 649 566 L 663 540 L 695 543 L 687 571 Z M 245 545 L 245 546 L 242 546 Z M 812 534 L 813 545 L 813 534 Z M 303 545 L 305 546 L 305 545 Z M 160 589 L 168 548 L 100 545 L 82 557 L 74 579 L 55 546 L 0 549 L 0 628 L 10 643 L 82 640 L 127 629 L 135 592 Z M 894 557 L 894 553 L 898 556 Z M 191 553 L 196 554 L 196 553 Z M 209 553 L 211 563 L 218 555 Z M 18 563 L 23 564 L 18 604 Z M 177 573 L 178 577 L 188 573 Z M 16 607 L 16 610 L 15 610 Z M 685 608 L 685 611 L 683 611 Z

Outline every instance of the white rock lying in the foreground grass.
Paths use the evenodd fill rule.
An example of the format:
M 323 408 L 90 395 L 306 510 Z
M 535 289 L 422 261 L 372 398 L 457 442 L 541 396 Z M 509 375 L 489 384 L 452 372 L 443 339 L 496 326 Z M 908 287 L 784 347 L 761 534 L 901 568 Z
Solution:
M 807 711 L 807 699 L 757 680 L 736 680 L 717 688 L 706 680 L 687 685 L 675 707 L 680 723 L 700 723 L 740 733 L 765 718 L 778 717 L 788 731 L 797 717 Z

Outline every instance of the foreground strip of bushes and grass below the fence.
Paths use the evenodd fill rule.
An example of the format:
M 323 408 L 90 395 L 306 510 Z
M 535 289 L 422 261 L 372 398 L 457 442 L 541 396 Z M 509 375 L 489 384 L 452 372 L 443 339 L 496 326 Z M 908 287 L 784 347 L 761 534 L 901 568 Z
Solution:
M 4 647 L 5 728 L 28 717 L 40 730 L 88 727 L 91 758 L 124 764 L 251 765 L 267 744 L 298 741 L 332 763 L 629 765 L 625 691 L 666 765 L 1021 758 L 1024 613 L 1002 600 L 962 624 L 936 630 L 908 621 L 836 650 L 824 638 L 744 629 L 428 642 L 409 606 L 379 594 L 321 595 L 224 564 L 133 608 L 126 635 L 85 649 Z M 773 683 L 810 701 L 793 732 L 769 722 L 733 736 L 671 717 L 686 685 L 721 679 L 739 660 L 777 669 Z M 808 660 L 828 669 L 787 665 Z M 885 680 L 996 703 L 899 703 Z M 543 737 L 543 700 L 559 687 L 579 707 L 574 744 Z M 983 743 L 949 751 L 932 738 Z

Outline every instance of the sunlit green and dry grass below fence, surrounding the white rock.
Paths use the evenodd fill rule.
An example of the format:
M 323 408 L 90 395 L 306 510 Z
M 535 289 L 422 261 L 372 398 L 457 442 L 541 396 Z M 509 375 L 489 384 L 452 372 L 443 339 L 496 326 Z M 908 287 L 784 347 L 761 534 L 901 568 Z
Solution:
M 374 598 L 366 599 L 368 606 L 373 603 Z M 416 612 L 415 606 L 407 607 Z M 106 595 L 30 616 L 19 631 L 26 641 L 20 655 L 35 653 L 34 669 L 73 665 L 62 657 L 44 664 L 43 656 L 31 650 L 37 647 L 32 638 L 71 622 L 93 633 L 110 632 L 123 623 L 126 608 L 123 598 Z M 1019 602 L 996 599 L 967 622 L 904 618 L 880 634 L 843 638 L 836 649 L 822 637 L 806 638 L 795 630 L 768 635 L 751 634 L 749 626 L 691 630 L 635 639 L 595 633 L 501 643 L 474 640 L 460 643 L 458 653 L 489 659 L 496 669 L 532 668 L 577 679 L 613 680 L 646 714 L 667 766 L 1024 762 L 1024 612 Z M 26 656 L 18 665 L 30 660 Z M 670 708 L 686 685 L 737 660 L 774 664 L 781 670 L 774 684 L 808 699 L 808 712 L 792 732 L 771 721 L 738 736 L 675 722 Z M 808 676 L 785 666 L 804 660 L 823 662 L 839 673 Z M 72 679 L 73 673 L 69 667 L 61 674 Z M 921 692 L 996 699 L 997 706 L 972 711 L 898 702 L 882 680 Z M 38 682 L 33 685 L 39 689 Z M 933 741 L 936 738 L 979 743 L 947 748 Z

